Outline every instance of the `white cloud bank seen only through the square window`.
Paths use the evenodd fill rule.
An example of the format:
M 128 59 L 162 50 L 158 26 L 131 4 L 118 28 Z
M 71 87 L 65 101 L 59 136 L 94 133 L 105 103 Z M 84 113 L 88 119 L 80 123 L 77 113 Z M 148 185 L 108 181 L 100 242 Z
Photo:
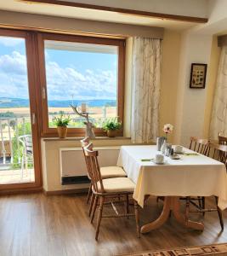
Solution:
M 114 71 L 86 70 L 79 73 L 75 68 L 60 67 L 49 61 L 46 65 L 48 99 L 116 99 L 116 73 Z M 63 92 L 63 93 L 62 93 Z

